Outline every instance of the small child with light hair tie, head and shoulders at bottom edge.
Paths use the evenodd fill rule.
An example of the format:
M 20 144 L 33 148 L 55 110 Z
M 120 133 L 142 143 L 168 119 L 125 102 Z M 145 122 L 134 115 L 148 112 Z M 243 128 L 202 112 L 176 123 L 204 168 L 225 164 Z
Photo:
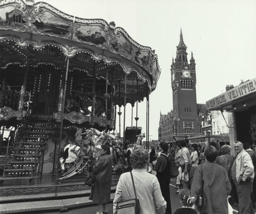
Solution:
M 179 199 L 182 203 L 182 208 L 177 209 L 173 214 L 197 214 L 194 210 L 195 198 L 189 189 L 182 189 L 179 193 Z

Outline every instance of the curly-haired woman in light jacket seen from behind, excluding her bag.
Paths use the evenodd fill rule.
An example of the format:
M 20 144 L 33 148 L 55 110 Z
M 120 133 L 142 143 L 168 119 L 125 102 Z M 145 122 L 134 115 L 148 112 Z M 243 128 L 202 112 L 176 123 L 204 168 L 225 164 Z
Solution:
M 140 200 L 140 214 L 164 214 L 166 202 L 162 196 L 157 177 L 147 173 L 145 168 L 149 162 L 149 153 L 145 149 L 136 149 L 132 152 L 132 176 L 137 198 Z M 114 214 L 117 212 L 117 203 L 135 198 L 130 173 L 123 173 L 116 186 L 113 202 Z

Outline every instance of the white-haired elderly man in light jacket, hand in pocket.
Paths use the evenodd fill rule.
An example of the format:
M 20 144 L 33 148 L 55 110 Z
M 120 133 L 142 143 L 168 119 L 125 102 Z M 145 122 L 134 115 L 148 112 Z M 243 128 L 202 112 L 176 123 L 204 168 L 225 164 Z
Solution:
M 237 154 L 235 165 L 235 186 L 239 200 L 239 210 L 241 214 L 254 214 L 251 191 L 254 178 L 254 168 L 252 159 L 240 141 L 235 141 L 235 152 Z

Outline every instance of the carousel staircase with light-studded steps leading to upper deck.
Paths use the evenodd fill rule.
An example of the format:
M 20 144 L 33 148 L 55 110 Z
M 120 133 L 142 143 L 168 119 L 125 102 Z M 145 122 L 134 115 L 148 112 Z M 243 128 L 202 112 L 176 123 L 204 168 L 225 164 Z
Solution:
M 20 140 L 11 145 L 8 143 L 0 185 L 7 180 L 27 180 L 29 185 L 33 178 L 41 175 L 45 144 L 50 133 L 49 120 L 29 118 L 25 124 L 17 132 L 16 139 Z

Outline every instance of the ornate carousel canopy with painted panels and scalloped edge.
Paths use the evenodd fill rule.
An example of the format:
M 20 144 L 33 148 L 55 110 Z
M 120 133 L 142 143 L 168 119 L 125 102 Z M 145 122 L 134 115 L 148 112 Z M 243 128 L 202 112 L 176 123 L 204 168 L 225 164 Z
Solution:
M 107 77 L 117 105 L 124 104 L 127 75 L 126 103 L 134 105 L 156 88 L 161 69 L 154 52 L 114 22 L 71 16 L 45 2 L 0 1 L 0 73 L 13 73 L 16 85 L 22 85 L 23 67 L 35 73 L 64 70 L 69 58 L 73 74 Z

